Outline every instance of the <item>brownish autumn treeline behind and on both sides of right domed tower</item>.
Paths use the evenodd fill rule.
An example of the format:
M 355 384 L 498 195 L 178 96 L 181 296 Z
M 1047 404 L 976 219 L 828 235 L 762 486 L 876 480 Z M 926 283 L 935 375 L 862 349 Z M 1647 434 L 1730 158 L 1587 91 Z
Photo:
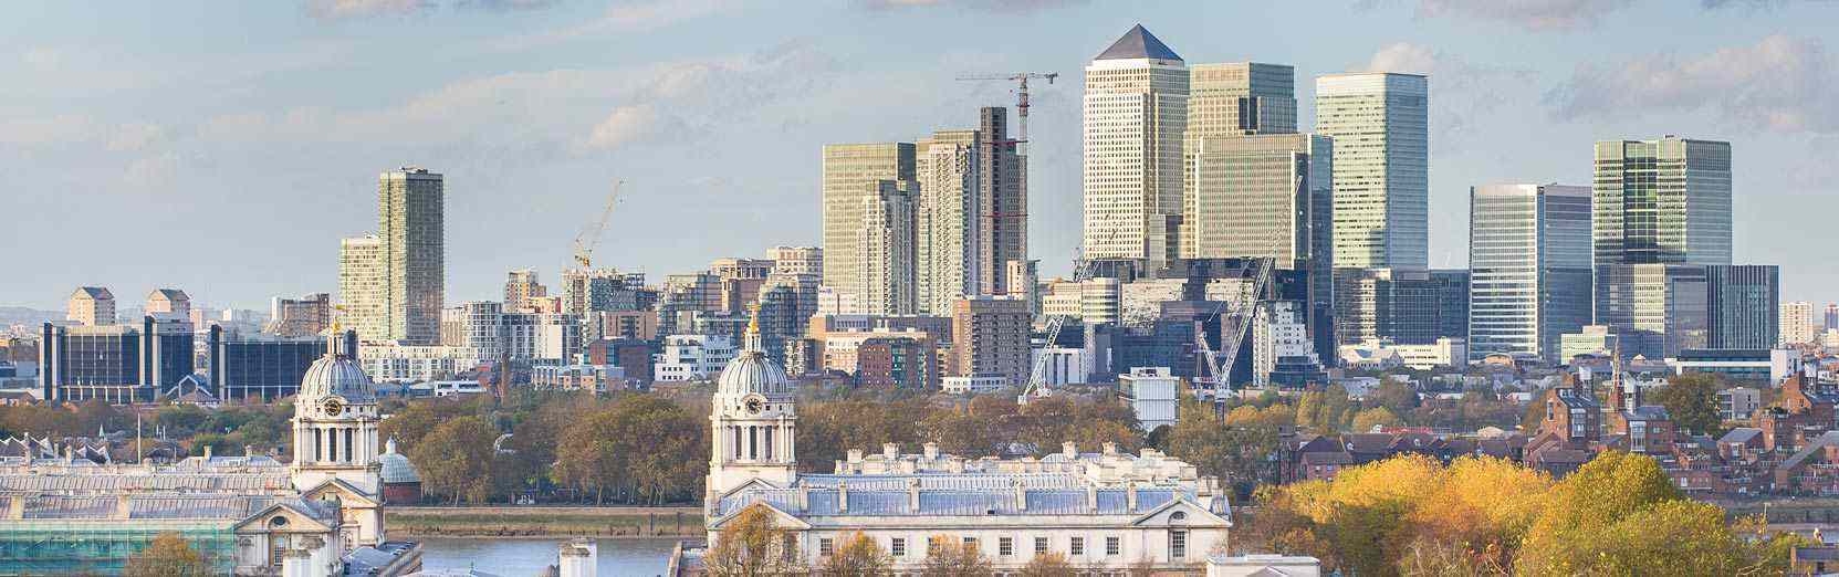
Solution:
M 519 391 L 417 399 L 383 423 L 421 472 L 423 492 L 447 503 L 520 496 L 583 503 L 686 503 L 702 498 L 708 474 L 706 391 L 680 397 Z M 1114 399 L 918 397 L 894 390 L 813 391 L 798 402 L 798 467 L 829 472 L 851 448 L 897 443 L 920 452 L 938 443 L 965 458 L 1085 452 L 1103 443 L 1144 447 L 1137 417 Z

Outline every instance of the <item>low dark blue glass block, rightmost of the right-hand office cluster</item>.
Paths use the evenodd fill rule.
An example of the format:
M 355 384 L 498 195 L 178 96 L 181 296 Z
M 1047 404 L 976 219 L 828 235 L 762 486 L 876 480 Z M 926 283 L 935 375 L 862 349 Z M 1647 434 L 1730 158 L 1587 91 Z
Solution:
M 1782 270 L 1775 265 L 1705 266 L 1712 349 L 1769 349 L 1780 342 Z

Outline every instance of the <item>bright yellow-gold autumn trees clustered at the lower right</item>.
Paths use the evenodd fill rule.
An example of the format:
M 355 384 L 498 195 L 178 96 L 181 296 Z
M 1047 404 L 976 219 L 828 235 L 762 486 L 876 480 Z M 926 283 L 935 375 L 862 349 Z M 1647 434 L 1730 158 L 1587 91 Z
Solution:
M 1806 540 L 1725 522 L 1646 456 L 1604 452 L 1561 481 L 1495 458 L 1399 456 L 1263 487 L 1241 548 L 1352 575 L 1780 575 Z

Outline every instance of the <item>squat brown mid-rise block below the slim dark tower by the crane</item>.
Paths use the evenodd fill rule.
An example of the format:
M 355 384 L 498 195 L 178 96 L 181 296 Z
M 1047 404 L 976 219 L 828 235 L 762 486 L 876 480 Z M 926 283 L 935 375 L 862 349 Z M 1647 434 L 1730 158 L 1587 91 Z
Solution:
M 1017 298 L 975 296 L 951 309 L 951 371 L 958 377 L 1028 380 L 1028 303 Z

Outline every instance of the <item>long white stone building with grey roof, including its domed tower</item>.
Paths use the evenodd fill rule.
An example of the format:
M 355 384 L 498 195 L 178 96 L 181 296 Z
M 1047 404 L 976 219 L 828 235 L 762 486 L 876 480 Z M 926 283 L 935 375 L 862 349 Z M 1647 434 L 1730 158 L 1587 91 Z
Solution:
M 704 518 L 710 544 L 741 511 L 767 507 L 809 564 L 862 531 L 918 570 L 932 538 L 977 546 L 997 571 L 1061 553 L 1081 568 L 1201 571 L 1232 527 L 1217 481 L 1153 450 L 1063 450 L 1043 459 L 960 459 L 927 452 L 853 452 L 833 474 L 798 474 L 793 384 L 748 336 L 721 371 L 710 415 Z

